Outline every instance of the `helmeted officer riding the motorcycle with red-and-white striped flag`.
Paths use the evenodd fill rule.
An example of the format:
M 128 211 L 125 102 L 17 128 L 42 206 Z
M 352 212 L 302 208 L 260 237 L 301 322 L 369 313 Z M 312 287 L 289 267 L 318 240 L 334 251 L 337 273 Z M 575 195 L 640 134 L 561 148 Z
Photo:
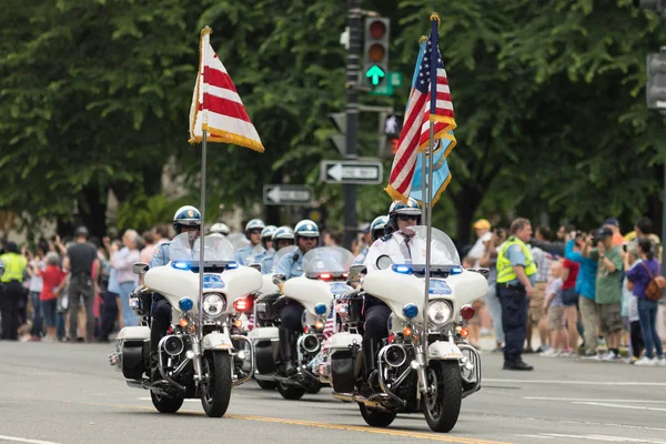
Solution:
M 192 205 L 184 205 L 176 210 L 173 215 L 173 230 L 175 234 L 183 232 L 194 232 L 199 235 L 201 230 L 201 213 Z M 170 261 L 170 242 L 162 243 L 150 260 L 149 268 L 167 265 Z M 159 293 L 153 294 L 151 309 L 152 323 L 150 326 L 150 366 L 151 380 L 159 379 L 158 371 L 158 345 L 160 340 L 167 334 L 169 324 L 171 324 L 171 304 Z

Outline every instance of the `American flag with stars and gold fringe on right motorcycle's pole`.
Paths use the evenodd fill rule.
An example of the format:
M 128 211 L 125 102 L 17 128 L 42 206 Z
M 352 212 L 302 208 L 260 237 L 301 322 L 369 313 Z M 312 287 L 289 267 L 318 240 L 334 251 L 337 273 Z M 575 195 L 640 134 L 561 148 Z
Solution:
M 410 93 L 405 122 L 386 186 L 386 192 L 393 199 L 405 200 L 410 195 L 418 152 L 430 145 L 431 121 L 434 125 L 434 147 L 437 140 L 447 138 L 448 132 L 455 129 L 448 78 L 438 48 L 438 17 L 431 17 L 431 36 Z

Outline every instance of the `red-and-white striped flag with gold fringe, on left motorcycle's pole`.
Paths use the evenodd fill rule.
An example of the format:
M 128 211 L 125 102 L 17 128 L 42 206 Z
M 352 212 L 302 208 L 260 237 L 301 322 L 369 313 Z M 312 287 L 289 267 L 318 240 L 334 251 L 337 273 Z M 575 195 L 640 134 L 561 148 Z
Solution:
M 261 139 L 248 117 L 231 77 L 211 47 L 213 30 L 201 30 L 200 63 L 190 108 L 190 143 L 225 142 L 263 152 Z

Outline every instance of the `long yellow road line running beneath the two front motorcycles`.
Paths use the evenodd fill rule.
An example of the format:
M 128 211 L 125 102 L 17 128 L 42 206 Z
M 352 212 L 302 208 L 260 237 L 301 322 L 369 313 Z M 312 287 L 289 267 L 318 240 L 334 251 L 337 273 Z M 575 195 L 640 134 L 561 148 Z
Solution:
M 141 410 L 148 412 L 154 412 L 153 407 L 148 406 L 139 406 L 139 405 L 122 405 L 122 404 L 105 404 L 105 403 L 91 403 L 91 402 L 80 402 L 80 401 L 62 401 L 63 403 L 69 404 L 83 404 L 83 405 L 95 405 L 102 407 L 114 407 L 122 410 Z M 201 411 L 193 410 L 180 410 L 179 412 L 194 414 L 200 416 L 205 416 L 205 413 Z M 475 440 L 470 437 L 456 437 L 456 436 L 443 436 L 437 435 L 434 432 L 413 432 L 413 431 L 401 431 L 401 430 L 390 430 L 390 428 L 374 428 L 369 425 L 345 425 L 345 424 L 330 424 L 330 423 L 317 423 L 312 421 L 301 421 L 301 420 L 287 420 L 281 417 L 270 417 L 270 416 L 253 416 L 253 415 L 232 415 L 225 414 L 223 417 L 231 420 L 244 420 L 244 421 L 259 421 L 259 422 L 268 422 L 268 423 L 279 423 L 286 425 L 300 425 L 306 427 L 321 427 L 329 430 L 340 430 L 345 432 L 363 432 L 363 433 L 374 433 L 379 435 L 391 435 L 391 436 L 404 436 L 420 440 L 430 440 L 430 441 L 440 441 L 445 443 L 462 443 L 462 444 L 509 444 L 502 441 L 488 441 L 488 440 Z M 425 420 L 424 420 L 425 421 Z M 51 443 L 48 443 L 51 444 Z

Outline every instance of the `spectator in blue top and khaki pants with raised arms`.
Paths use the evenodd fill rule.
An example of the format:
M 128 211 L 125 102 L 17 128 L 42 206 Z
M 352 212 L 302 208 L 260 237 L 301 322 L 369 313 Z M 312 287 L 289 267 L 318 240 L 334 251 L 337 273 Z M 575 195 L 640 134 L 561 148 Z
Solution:
M 576 293 L 578 297 L 578 307 L 581 309 L 581 319 L 583 321 L 584 347 L 583 355 L 585 357 L 596 359 L 598 346 L 597 325 L 598 315 L 595 302 L 596 296 L 596 274 L 597 261 L 583 255 L 583 249 L 586 245 L 592 245 L 597 232 L 591 234 L 576 233 L 573 239 L 566 243 L 565 258 L 569 261 L 579 264 L 578 276 L 576 278 Z

